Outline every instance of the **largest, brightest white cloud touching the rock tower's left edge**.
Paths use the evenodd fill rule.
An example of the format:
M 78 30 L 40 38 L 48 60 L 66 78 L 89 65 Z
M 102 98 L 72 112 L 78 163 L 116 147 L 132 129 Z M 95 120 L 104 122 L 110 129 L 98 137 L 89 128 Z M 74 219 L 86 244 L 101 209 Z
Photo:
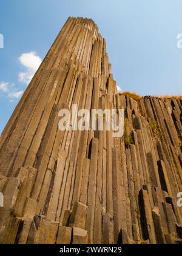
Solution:
M 19 82 L 29 84 L 42 60 L 36 52 L 27 52 L 19 57 L 19 62 L 26 69 L 25 72 L 19 73 Z

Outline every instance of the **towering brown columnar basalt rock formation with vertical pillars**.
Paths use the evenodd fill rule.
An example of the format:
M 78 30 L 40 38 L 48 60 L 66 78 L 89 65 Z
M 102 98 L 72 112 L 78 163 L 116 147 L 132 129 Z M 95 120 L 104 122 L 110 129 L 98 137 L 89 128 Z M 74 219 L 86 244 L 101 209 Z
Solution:
M 124 108 L 124 136 L 62 132 L 73 104 Z M 180 243 L 181 107 L 118 94 L 98 27 L 69 18 L 1 135 L 0 243 Z

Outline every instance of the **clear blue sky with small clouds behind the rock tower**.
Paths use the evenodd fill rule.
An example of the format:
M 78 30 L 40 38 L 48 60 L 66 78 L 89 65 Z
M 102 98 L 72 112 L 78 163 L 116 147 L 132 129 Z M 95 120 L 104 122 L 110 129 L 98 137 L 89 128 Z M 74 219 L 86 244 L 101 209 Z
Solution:
M 98 25 L 123 91 L 182 94 L 181 10 L 181 0 L 1 0 L 0 133 L 69 16 Z

